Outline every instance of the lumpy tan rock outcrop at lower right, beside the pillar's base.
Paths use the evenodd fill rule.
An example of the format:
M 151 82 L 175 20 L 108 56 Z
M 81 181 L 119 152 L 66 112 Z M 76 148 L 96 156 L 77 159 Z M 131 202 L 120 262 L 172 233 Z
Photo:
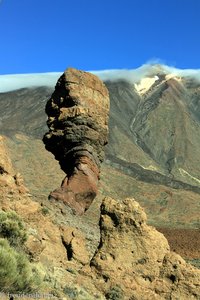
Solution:
M 164 235 L 146 224 L 134 199 L 119 203 L 105 198 L 100 230 L 91 269 L 107 299 L 200 298 L 200 270 L 170 252 Z

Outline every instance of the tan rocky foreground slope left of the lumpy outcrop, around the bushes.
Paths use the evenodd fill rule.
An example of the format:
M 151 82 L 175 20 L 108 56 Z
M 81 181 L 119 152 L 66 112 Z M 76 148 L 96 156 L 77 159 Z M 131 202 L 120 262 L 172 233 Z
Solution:
M 82 290 L 83 297 L 95 299 L 95 296 L 91 295 L 93 293 L 95 295 L 95 292 L 100 294 L 98 290 L 93 287 L 89 293 L 84 291 L 78 284 L 75 274 L 78 274 L 83 265 L 89 264 L 90 257 L 95 251 L 93 248 L 99 242 L 98 226 L 85 222 L 84 218 L 80 219 L 78 216 L 74 221 L 74 216 L 70 210 L 65 209 L 65 206 L 61 209 L 52 203 L 49 204 L 48 201 L 45 203 L 45 199 L 41 195 L 35 201 L 25 187 L 22 178 L 16 174 L 12 166 L 5 140 L 6 138 L 1 137 L 0 240 L 4 237 L 2 226 L 5 226 L 2 225 L 2 214 L 15 213 L 15 219 L 19 218 L 23 221 L 26 241 L 24 245 L 17 245 L 16 248 L 12 246 L 12 249 L 23 253 L 23 256 L 28 258 L 30 270 L 35 270 L 35 272 L 37 270 L 40 280 L 31 290 L 26 289 L 25 286 L 18 289 L 15 283 L 10 283 L 9 270 L 6 272 L 3 270 L 2 251 L 4 248 L 0 245 L 0 273 L 4 272 L 6 279 L 6 285 L 2 286 L 2 277 L 0 277 L 0 291 L 14 294 L 31 292 L 33 295 L 37 292 L 40 295 L 50 294 L 52 299 L 70 299 L 65 291 L 70 286 L 76 290 L 77 286 L 80 291 Z M 7 222 L 9 227 L 4 239 L 13 234 L 12 226 L 9 225 L 10 221 L 7 220 Z M 17 230 L 15 223 L 14 230 Z M 84 232 L 87 235 L 87 243 L 85 243 Z M 21 299 L 27 298 L 32 299 L 31 296 L 21 296 Z M 35 299 L 34 296 L 33 299 Z M 46 299 L 46 297 L 41 296 L 41 299 Z

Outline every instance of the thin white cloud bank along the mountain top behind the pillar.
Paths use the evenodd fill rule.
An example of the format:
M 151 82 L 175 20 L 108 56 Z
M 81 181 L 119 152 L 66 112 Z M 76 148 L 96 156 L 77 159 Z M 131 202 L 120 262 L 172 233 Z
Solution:
M 173 74 L 179 77 L 192 77 L 200 81 L 200 69 L 178 69 L 164 64 L 146 63 L 136 69 L 113 69 L 90 71 L 104 81 L 127 80 L 132 83 L 139 82 L 144 77 L 161 74 Z M 54 87 L 62 72 L 11 74 L 0 75 L 0 92 L 8 92 L 20 88 L 49 86 Z

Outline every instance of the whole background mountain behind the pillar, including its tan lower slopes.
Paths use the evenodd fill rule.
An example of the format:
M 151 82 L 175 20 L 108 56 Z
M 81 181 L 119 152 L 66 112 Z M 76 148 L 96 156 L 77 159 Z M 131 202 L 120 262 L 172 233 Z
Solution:
M 111 109 L 101 190 L 111 196 L 117 191 L 121 198 L 137 195 L 154 225 L 196 228 L 200 82 L 169 71 L 149 66 L 134 80 L 106 75 Z M 0 93 L 0 131 L 8 137 L 13 163 L 32 192 L 46 196 L 63 177 L 41 142 L 52 92 L 53 87 L 37 86 Z M 124 182 L 120 187 L 118 176 Z

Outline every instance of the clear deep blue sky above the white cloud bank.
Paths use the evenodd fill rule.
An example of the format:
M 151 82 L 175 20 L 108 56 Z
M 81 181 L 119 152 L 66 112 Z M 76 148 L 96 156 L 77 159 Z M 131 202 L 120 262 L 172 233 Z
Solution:
M 0 74 L 200 68 L 200 0 L 0 0 Z

